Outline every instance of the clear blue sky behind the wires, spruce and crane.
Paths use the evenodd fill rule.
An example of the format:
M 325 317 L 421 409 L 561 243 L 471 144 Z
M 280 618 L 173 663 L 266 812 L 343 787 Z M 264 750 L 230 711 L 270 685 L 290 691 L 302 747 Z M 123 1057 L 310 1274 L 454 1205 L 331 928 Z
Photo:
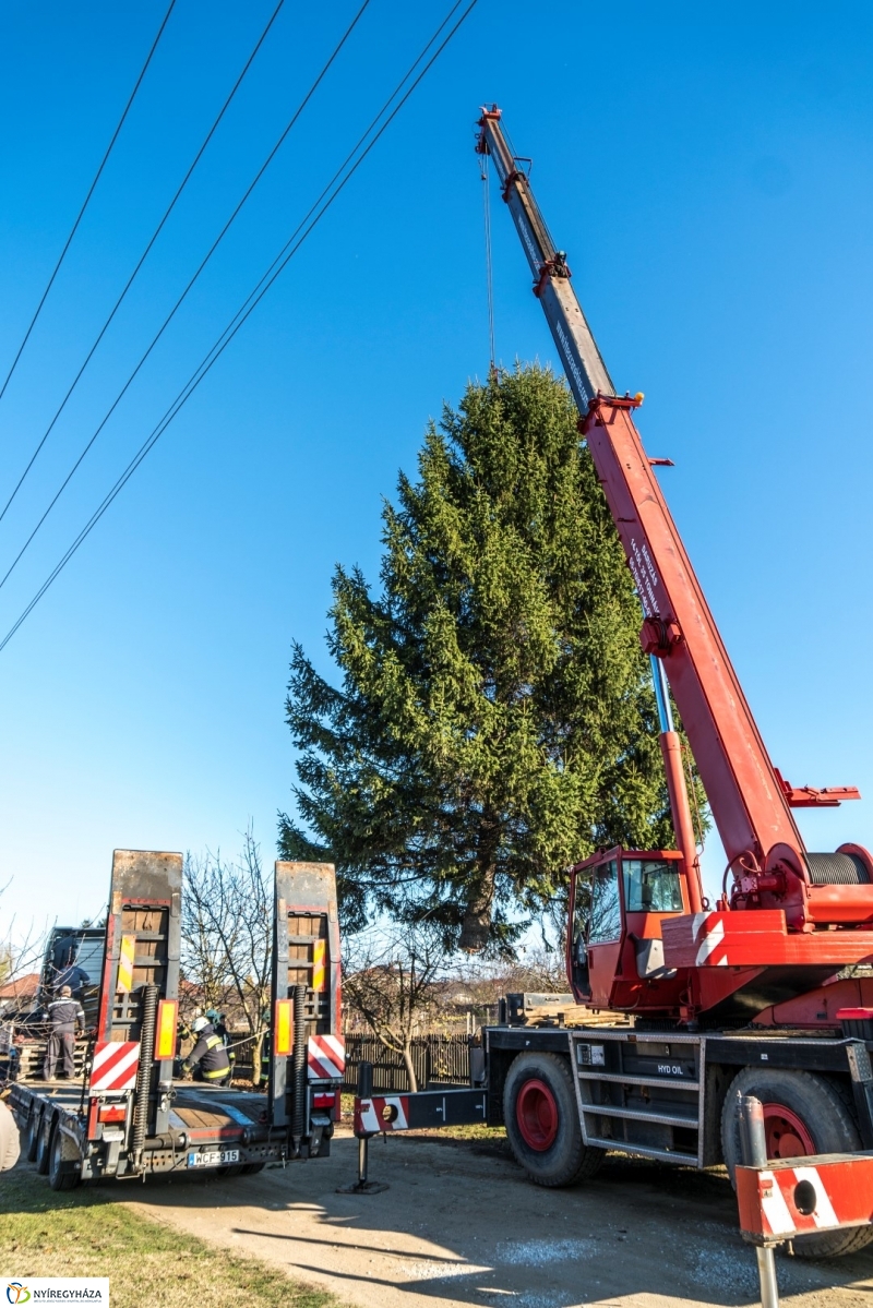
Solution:
M 274 0 L 178 0 L 0 402 L 17 480 Z M 0 523 L 14 557 L 356 5 L 287 0 L 143 275 Z M 372 0 L 178 320 L 0 589 L 12 625 L 449 8 Z M 165 5 L 0 9 L 0 373 Z M 488 362 L 472 124 L 497 101 L 640 426 L 774 761 L 866 798 L 873 14 L 860 4 L 479 0 L 60 579 L 0 653 L 4 916 L 77 920 L 114 846 L 272 857 L 293 638 L 323 670 L 336 561 Z M 496 339 L 554 352 L 493 212 Z M 4 562 L 5 561 L 5 562 Z M 3 634 L 0 633 L 0 634 Z M 717 848 L 708 879 L 720 876 Z

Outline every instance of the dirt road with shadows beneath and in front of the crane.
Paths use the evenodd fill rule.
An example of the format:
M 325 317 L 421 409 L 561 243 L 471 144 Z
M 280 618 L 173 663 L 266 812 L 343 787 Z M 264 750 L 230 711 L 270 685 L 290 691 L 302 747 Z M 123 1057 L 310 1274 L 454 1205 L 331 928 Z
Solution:
M 376 1141 L 370 1159 L 370 1177 L 390 1189 L 366 1198 L 336 1193 L 355 1179 L 348 1137 L 329 1160 L 135 1193 L 151 1216 L 360 1308 L 758 1303 L 754 1250 L 722 1176 L 615 1159 L 584 1186 L 542 1190 L 501 1146 L 408 1137 Z M 796 1308 L 869 1308 L 873 1252 L 830 1264 L 781 1257 L 779 1282 Z

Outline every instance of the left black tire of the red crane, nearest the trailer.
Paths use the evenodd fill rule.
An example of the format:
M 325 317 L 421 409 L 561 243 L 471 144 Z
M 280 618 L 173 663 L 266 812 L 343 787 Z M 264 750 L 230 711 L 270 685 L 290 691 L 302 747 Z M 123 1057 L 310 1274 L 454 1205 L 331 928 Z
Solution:
M 531 1133 L 531 1114 L 525 1109 L 534 1095 L 548 1104 L 552 1114 L 547 1129 L 537 1127 L 539 1138 Z M 599 1167 L 603 1150 L 582 1143 L 576 1092 L 565 1058 L 520 1054 L 507 1075 L 503 1112 L 512 1152 L 535 1185 L 573 1185 L 586 1181 Z

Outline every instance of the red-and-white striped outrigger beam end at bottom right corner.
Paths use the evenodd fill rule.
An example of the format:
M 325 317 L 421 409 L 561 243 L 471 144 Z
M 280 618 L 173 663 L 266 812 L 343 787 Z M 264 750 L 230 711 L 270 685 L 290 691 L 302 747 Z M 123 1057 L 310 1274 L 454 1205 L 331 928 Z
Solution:
M 737 1168 L 743 1235 L 757 1243 L 791 1240 L 814 1231 L 868 1226 L 873 1219 L 873 1155 L 798 1158 L 796 1165 Z

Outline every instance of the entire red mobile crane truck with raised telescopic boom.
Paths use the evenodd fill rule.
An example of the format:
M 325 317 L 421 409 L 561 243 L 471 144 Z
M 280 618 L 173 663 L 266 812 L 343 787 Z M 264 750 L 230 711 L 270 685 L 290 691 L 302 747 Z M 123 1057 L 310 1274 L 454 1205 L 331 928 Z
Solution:
M 613 385 L 500 110 L 486 107 L 478 128 L 639 595 L 677 845 L 603 849 L 569 870 L 572 995 L 615 1022 L 483 1028 L 471 1069 L 484 1117 L 547 1186 L 590 1177 L 610 1150 L 724 1163 L 733 1176 L 741 1095 L 763 1103 L 772 1159 L 872 1150 L 873 858 L 852 842 L 808 850 L 793 818 L 860 795 L 794 787 L 771 763 L 658 485 L 665 460 L 647 455 L 633 422 L 643 398 Z M 673 705 L 726 850 L 715 906 Z M 361 1095 L 357 1134 L 437 1125 L 429 1097 Z M 835 1256 L 870 1239 L 856 1226 L 805 1235 L 796 1250 Z

